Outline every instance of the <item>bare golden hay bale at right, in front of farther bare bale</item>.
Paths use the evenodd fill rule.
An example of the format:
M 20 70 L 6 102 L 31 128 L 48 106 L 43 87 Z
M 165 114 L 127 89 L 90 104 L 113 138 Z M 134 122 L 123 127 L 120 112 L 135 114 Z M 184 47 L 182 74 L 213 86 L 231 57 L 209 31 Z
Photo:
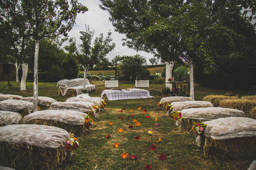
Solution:
M 250 117 L 250 112 L 255 106 L 256 101 L 250 99 L 226 99 L 220 103 L 220 107 L 244 111 L 246 117 Z

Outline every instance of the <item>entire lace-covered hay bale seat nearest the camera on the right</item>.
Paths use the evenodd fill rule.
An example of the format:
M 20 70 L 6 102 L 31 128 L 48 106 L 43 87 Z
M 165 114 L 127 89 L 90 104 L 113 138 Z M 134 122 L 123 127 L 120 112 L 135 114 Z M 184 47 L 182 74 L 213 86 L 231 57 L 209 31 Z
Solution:
M 227 117 L 209 120 L 204 123 L 207 125 L 204 131 L 204 154 L 206 157 L 255 159 L 255 119 Z

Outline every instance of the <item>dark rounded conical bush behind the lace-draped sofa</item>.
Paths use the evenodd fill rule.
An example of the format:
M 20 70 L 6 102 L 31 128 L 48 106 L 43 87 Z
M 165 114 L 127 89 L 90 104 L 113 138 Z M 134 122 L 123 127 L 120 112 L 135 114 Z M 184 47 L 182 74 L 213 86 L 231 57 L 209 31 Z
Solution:
M 79 67 L 75 57 L 68 54 L 65 60 L 63 60 L 63 62 L 61 63 L 60 70 L 61 70 L 61 78 L 63 79 L 77 78 Z

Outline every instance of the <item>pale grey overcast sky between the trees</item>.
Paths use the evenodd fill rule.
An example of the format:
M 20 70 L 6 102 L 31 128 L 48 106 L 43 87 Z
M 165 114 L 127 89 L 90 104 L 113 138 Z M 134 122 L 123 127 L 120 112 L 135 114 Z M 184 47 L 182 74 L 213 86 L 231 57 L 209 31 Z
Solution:
M 84 24 L 89 25 L 91 30 L 94 30 L 94 38 L 98 37 L 100 33 L 103 32 L 104 37 L 108 35 L 109 30 L 113 32 L 111 37 L 113 38 L 113 42 L 116 44 L 115 49 L 108 53 L 107 58 L 111 61 L 116 55 L 136 55 L 140 54 L 143 57 L 148 59 L 153 57 L 151 53 L 146 52 L 136 52 L 136 50 L 132 50 L 127 46 L 122 46 L 122 38 L 125 38 L 123 34 L 119 34 L 115 32 L 115 28 L 109 21 L 109 13 L 108 11 L 103 11 L 100 9 L 99 0 L 79 0 L 84 6 L 88 8 L 83 14 L 77 15 L 76 25 L 74 25 L 72 31 L 68 33 L 68 36 L 72 38 L 76 38 L 77 45 L 81 44 L 81 40 L 79 39 L 80 33 L 79 31 L 85 31 Z

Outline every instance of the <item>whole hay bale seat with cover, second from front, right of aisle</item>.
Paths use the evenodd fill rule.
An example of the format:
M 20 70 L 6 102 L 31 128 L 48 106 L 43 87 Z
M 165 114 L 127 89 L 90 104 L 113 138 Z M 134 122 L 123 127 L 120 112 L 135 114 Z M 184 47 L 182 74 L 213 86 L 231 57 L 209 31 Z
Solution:
M 193 122 L 204 122 L 223 117 L 244 117 L 241 110 L 209 107 L 209 108 L 189 108 L 181 111 L 182 117 L 179 119 L 179 130 L 190 131 Z

